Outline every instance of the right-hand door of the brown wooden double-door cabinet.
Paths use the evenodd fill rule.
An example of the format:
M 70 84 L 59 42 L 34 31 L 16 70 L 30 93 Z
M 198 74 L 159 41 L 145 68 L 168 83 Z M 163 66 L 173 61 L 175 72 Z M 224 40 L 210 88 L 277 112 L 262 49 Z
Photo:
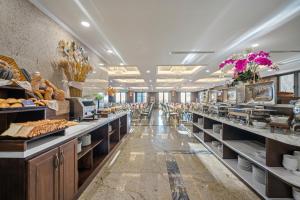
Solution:
M 71 200 L 77 192 L 77 139 L 74 139 L 59 148 L 59 195 L 60 200 Z

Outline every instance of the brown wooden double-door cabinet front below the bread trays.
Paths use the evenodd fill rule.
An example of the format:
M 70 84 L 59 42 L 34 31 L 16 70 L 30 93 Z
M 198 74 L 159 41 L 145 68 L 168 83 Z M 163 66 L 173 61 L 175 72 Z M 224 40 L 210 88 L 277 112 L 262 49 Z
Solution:
M 71 200 L 77 192 L 77 140 L 28 161 L 29 200 Z

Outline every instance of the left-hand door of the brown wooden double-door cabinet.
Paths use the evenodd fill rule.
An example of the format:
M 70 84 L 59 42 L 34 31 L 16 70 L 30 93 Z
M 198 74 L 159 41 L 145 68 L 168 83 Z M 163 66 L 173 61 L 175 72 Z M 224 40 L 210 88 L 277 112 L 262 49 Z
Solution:
M 29 160 L 28 200 L 58 200 L 58 175 L 58 148 Z

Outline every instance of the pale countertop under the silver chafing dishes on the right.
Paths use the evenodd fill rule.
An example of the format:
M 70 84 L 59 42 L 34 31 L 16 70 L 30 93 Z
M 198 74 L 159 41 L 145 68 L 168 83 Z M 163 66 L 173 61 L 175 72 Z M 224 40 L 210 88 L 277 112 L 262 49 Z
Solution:
M 191 112 L 194 114 L 202 115 L 203 117 L 207 117 L 212 120 L 221 122 L 223 124 L 227 124 L 227 125 L 230 125 L 230 126 L 233 126 L 233 127 L 236 127 L 236 128 L 257 134 L 257 135 L 261 135 L 266 138 L 270 138 L 270 139 L 273 139 L 273 140 L 276 140 L 276 141 L 279 141 L 279 142 L 282 142 L 285 144 L 300 147 L 300 135 L 291 135 L 291 134 L 287 135 L 287 134 L 283 134 L 283 133 L 271 133 L 270 129 L 268 129 L 268 128 L 257 129 L 257 128 L 254 128 L 253 126 L 240 125 L 240 124 L 234 123 L 232 121 L 229 121 L 227 119 L 213 117 L 213 116 L 210 116 L 210 115 L 207 115 L 204 113 L 199 113 L 199 112 L 195 112 L 195 111 L 191 111 Z

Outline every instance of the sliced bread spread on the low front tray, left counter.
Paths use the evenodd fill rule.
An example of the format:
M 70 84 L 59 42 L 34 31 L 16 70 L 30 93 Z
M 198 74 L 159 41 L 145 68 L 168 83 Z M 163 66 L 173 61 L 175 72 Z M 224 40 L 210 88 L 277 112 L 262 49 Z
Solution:
M 33 138 L 53 131 L 61 130 L 69 126 L 77 125 L 76 122 L 67 120 L 39 120 L 25 123 L 12 123 L 8 130 L 1 136 Z

